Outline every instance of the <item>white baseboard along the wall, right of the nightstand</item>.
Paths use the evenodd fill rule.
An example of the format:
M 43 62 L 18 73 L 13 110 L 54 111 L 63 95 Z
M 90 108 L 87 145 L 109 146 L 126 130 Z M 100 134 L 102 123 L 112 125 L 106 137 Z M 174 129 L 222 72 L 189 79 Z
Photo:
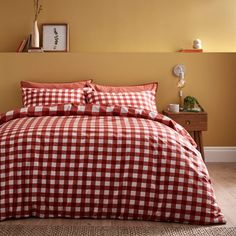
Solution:
M 236 162 L 236 147 L 205 147 L 206 162 Z

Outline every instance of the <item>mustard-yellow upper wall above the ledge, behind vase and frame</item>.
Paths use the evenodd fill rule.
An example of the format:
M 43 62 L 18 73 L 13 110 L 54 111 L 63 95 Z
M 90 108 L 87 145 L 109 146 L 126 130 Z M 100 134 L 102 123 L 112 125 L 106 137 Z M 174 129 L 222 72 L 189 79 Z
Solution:
M 31 31 L 33 0 L 0 0 L 0 51 Z M 66 22 L 73 52 L 173 52 L 203 40 L 236 51 L 235 0 L 42 0 L 40 23 Z

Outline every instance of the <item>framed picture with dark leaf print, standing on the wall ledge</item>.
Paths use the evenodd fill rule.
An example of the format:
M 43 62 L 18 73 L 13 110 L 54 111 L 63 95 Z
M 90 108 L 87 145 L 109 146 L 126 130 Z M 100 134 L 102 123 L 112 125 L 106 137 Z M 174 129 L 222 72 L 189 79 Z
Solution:
M 43 24 L 43 50 L 45 52 L 69 51 L 69 25 Z

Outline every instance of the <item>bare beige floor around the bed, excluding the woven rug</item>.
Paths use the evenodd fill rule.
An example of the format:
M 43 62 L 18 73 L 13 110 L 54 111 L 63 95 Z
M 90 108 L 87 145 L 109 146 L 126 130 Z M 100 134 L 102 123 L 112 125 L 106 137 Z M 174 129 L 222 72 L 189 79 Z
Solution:
M 220 205 L 226 220 L 226 226 L 236 227 L 236 163 L 209 163 L 207 164 L 215 189 L 217 202 Z M 148 221 L 121 221 L 121 220 L 73 220 L 73 219 L 25 219 L 8 220 L 1 224 L 38 224 L 38 225 L 93 225 L 93 226 L 157 226 L 169 223 Z M 173 225 L 173 224 L 171 224 Z M 175 224 L 180 225 L 181 224 Z

